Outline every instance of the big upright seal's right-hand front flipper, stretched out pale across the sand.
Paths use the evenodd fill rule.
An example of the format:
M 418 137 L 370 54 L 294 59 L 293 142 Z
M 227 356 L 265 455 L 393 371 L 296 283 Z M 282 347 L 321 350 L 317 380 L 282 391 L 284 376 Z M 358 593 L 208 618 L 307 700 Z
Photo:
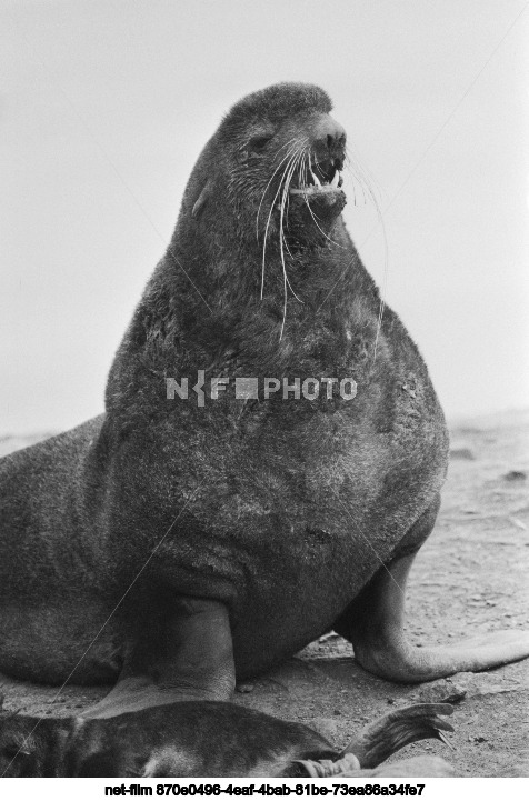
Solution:
M 495 631 L 450 645 L 415 648 L 406 640 L 405 589 L 417 550 L 433 528 L 437 503 L 412 527 L 401 555 L 381 567 L 335 623 L 352 642 L 356 660 L 383 679 L 432 681 L 460 671 L 488 670 L 529 657 L 529 633 Z M 412 551 L 412 552 L 410 552 Z

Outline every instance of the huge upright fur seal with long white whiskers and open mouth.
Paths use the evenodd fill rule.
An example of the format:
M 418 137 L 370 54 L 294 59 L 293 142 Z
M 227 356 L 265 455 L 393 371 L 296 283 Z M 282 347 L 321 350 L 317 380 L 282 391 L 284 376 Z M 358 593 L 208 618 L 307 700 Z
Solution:
M 401 682 L 529 654 L 520 631 L 420 649 L 403 634 L 448 435 L 346 230 L 346 132 L 330 111 L 298 83 L 231 109 L 118 350 L 104 415 L 0 462 L 0 669 L 118 678 L 94 715 L 228 700 L 236 675 L 330 629 Z M 258 391 L 241 398 L 248 377 Z M 270 378 L 287 390 L 267 396 Z M 169 379 L 196 393 L 168 398 Z M 300 394 L 310 380 L 326 391 Z

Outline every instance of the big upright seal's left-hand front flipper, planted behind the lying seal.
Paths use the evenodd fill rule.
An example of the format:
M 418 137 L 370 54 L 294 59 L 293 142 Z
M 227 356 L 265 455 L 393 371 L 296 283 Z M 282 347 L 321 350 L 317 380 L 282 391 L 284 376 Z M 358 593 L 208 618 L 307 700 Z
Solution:
M 138 629 L 117 685 L 83 717 L 113 718 L 177 701 L 227 701 L 234 684 L 226 604 L 176 598 L 150 630 Z

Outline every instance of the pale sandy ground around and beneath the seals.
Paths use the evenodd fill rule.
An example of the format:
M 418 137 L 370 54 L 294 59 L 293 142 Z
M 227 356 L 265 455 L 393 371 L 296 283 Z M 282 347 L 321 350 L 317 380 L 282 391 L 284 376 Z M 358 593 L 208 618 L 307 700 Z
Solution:
M 0 439 L 0 455 L 37 439 Z M 459 423 L 451 440 L 441 513 L 409 584 L 408 631 L 416 643 L 529 628 L 529 411 Z M 400 755 L 441 755 L 459 775 L 529 774 L 529 660 L 420 687 L 398 685 L 366 673 L 351 647 L 329 634 L 238 690 L 237 703 L 302 721 L 340 747 L 391 708 L 451 699 L 452 748 L 422 741 Z M 49 715 L 78 714 L 106 690 L 68 687 L 58 693 L 0 674 L 0 692 L 8 709 Z

